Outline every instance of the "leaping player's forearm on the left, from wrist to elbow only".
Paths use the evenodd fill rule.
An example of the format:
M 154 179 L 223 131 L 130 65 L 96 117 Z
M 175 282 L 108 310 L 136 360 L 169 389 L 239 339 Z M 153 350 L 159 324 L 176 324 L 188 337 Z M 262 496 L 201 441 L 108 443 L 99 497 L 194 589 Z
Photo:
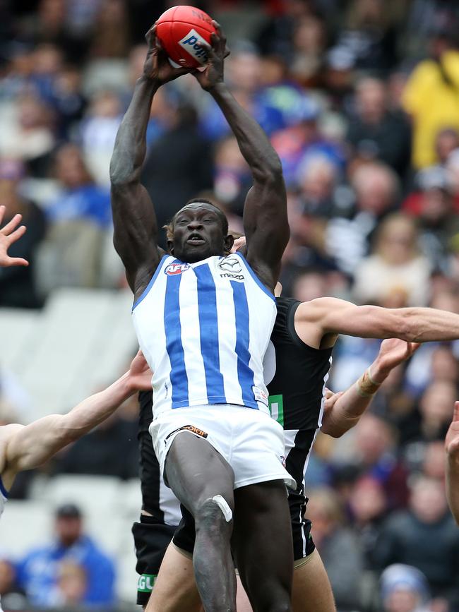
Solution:
M 131 104 L 121 121 L 114 144 L 110 162 L 112 186 L 122 186 L 140 179 L 150 107 L 158 86 L 155 80 L 145 76 L 137 80 Z

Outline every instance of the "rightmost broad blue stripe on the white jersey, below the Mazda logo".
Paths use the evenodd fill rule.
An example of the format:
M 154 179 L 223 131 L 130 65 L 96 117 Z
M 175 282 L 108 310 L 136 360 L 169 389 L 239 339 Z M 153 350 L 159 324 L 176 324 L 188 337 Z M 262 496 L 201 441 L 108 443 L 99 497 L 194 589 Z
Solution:
M 254 396 L 254 371 L 249 367 L 249 305 L 247 304 L 246 288 L 244 283 L 230 281 L 234 297 L 234 313 L 236 315 L 236 354 L 237 378 L 242 389 L 244 406 L 258 409 Z

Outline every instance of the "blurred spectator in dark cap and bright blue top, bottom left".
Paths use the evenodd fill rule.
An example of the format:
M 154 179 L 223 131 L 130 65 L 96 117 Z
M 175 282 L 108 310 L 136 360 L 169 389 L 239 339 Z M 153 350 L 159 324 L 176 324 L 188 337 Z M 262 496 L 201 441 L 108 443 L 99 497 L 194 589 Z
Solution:
M 62 505 L 56 511 L 54 528 L 55 540 L 30 551 L 18 565 L 18 582 L 32 605 L 49 608 L 63 603 L 60 599 L 77 598 L 85 606 L 112 606 L 114 565 L 85 535 L 81 510 L 73 504 Z M 66 573 L 69 563 L 81 570 Z M 87 579 L 84 590 L 83 572 Z

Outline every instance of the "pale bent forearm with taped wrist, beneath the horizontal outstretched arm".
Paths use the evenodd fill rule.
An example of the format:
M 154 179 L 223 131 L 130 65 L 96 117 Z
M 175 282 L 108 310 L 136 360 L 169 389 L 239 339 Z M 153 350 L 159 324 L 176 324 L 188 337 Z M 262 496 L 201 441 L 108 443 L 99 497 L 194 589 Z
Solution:
M 397 338 L 384 340 L 378 356 L 357 380 L 357 383 L 354 383 L 346 391 L 328 392 L 321 431 L 328 433 L 333 438 L 340 438 L 343 433 L 357 425 L 360 417 L 371 403 L 374 394 L 393 368 L 409 359 L 419 346 L 415 342 L 404 342 Z

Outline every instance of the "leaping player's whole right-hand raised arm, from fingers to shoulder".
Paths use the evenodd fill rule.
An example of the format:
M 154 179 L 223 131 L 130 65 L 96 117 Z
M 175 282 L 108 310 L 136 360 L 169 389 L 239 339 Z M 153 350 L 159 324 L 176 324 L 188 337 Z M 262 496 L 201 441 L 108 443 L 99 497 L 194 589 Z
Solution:
M 194 75 L 222 109 L 254 177 L 244 206 L 247 260 L 261 280 L 274 289 L 280 258 L 290 234 L 282 165 L 266 133 L 234 100 L 224 83 L 226 39 L 220 26 L 213 23 L 217 35 L 212 35 L 212 47 L 203 44 L 208 52 L 208 64 L 203 72 L 196 71 Z

